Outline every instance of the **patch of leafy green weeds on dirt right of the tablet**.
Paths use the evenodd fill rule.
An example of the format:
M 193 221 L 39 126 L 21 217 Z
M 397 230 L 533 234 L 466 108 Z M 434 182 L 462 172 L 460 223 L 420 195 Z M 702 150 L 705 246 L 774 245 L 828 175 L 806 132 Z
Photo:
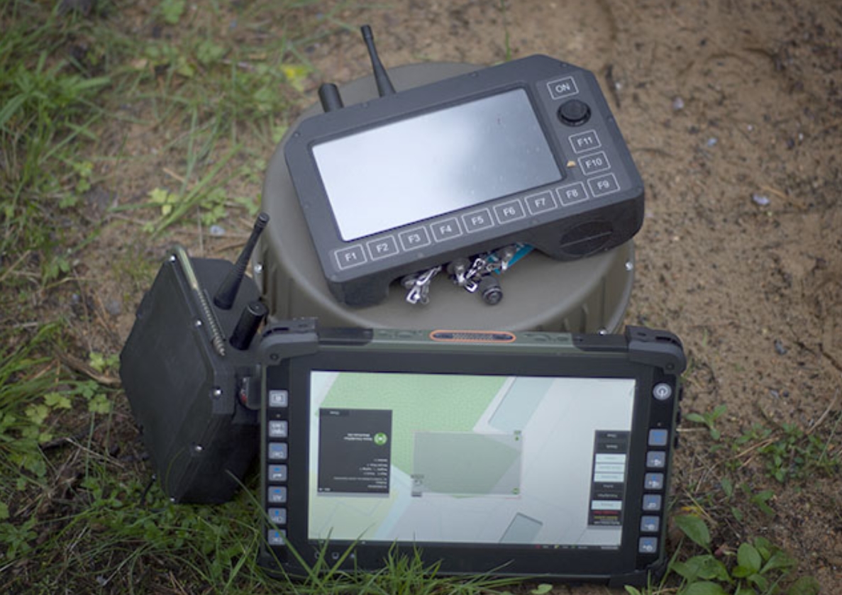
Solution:
M 818 582 L 800 575 L 790 554 L 758 529 L 749 528 L 765 532 L 763 528 L 777 516 L 777 490 L 757 476 L 759 470 L 778 488 L 788 484 L 795 489 L 838 473 L 839 414 L 823 417 L 808 430 L 788 423 L 775 428 L 755 423 L 735 437 L 719 423 L 726 412 L 725 406 L 716 406 L 685 416 L 705 431 L 709 479 L 686 486 L 687 492 L 679 499 L 687 503 L 673 520 L 685 539 L 675 550 L 663 581 L 644 590 L 629 587 L 631 595 L 818 593 Z M 711 480 L 718 489 L 706 489 Z M 744 537 L 752 531 L 754 535 Z

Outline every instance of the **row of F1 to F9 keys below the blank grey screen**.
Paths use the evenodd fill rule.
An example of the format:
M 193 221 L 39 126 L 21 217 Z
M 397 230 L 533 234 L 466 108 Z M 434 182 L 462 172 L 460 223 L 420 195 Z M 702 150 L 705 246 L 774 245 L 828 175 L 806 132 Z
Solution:
M 602 157 L 599 157 L 602 156 Z M 607 163 L 604 154 L 594 159 Z M 413 252 L 428 247 L 433 242 L 446 242 L 465 234 L 485 231 L 498 225 L 506 225 L 527 215 L 540 215 L 561 206 L 575 205 L 590 197 L 598 198 L 620 190 L 613 173 L 605 173 L 583 182 L 570 183 L 557 189 L 532 194 L 524 199 L 510 199 L 493 207 L 483 207 L 464 215 L 455 215 L 429 225 L 413 227 L 396 235 L 378 236 L 368 242 L 340 248 L 333 252 L 339 270 L 354 268 L 381 258 L 397 256 L 401 252 Z M 556 198 L 556 196 L 558 198 Z

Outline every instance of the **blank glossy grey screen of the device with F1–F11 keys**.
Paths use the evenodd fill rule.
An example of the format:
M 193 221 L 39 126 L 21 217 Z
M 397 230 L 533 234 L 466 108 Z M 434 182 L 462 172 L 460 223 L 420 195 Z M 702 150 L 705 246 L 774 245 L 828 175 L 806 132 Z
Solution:
M 562 179 L 523 88 L 317 143 L 345 242 Z

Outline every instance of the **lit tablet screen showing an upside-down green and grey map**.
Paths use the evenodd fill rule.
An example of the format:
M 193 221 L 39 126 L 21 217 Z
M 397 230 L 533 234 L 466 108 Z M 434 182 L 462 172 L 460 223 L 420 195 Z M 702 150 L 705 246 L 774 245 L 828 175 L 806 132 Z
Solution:
M 310 379 L 308 539 L 620 547 L 636 380 Z

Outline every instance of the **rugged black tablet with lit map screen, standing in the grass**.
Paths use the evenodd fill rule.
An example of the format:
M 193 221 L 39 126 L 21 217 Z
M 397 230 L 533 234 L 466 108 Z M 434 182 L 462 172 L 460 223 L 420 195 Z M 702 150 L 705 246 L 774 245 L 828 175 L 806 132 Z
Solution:
M 625 335 L 270 328 L 261 562 L 646 582 L 685 355 Z M 302 562 L 305 566 L 302 566 Z

